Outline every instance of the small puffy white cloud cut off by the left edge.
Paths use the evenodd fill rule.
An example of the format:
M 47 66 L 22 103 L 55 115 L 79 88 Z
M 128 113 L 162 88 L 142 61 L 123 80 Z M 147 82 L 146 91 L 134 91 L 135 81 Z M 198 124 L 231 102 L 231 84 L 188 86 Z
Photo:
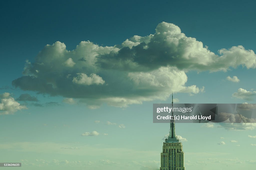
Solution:
M 22 109 L 27 109 L 27 107 L 15 101 L 9 93 L 0 94 L 0 115 L 13 114 Z

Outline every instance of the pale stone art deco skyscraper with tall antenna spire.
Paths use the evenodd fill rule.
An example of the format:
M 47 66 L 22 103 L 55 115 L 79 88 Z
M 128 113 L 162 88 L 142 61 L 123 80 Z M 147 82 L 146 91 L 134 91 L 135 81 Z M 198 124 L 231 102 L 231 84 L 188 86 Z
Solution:
M 173 95 L 172 95 L 173 116 Z M 170 133 L 163 143 L 160 170 L 185 170 L 182 143 L 175 134 L 175 120 L 170 120 Z

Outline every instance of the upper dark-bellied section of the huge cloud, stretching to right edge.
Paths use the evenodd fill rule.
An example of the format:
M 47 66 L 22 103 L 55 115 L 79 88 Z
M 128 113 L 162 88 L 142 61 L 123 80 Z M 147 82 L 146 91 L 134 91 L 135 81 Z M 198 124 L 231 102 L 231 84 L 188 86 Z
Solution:
M 180 70 L 226 71 L 240 65 L 256 67 L 256 55 L 243 46 L 220 49 L 216 55 L 196 38 L 187 37 L 174 24 L 162 22 L 156 33 L 145 37 L 133 36 L 119 47 L 118 53 L 102 55 L 98 64 L 104 68 L 148 71 L 175 66 Z

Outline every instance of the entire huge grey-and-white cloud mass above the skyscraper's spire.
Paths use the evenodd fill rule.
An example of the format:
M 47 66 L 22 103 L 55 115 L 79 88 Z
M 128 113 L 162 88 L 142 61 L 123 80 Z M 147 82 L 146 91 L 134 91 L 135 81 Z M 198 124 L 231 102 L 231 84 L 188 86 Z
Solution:
M 159 23 L 155 31 L 111 47 L 90 41 L 80 42 L 72 51 L 59 41 L 46 45 L 35 62 L 26 61 L 24 76 L 12 84 L 22 90 L 79 99 L 89 108 L 102 103 L 127 107 L 166 100 L 172 92 L 203 93 L 204 87 L 186 86 L 190 70 L 256 67 L 256 55 L 243 46 L 220 49 L 216 55 L 172 23 Z

